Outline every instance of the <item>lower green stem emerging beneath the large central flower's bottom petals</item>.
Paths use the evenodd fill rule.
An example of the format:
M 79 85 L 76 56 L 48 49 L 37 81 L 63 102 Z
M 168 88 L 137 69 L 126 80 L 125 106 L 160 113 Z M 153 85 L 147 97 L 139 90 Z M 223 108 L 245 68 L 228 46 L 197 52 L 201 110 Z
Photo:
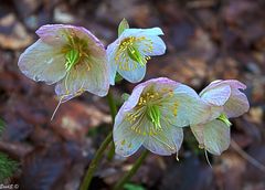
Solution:
M 124 188 L 124 184 L 137 172 L 137 170 L 140 168 L 142 161 L 148 156 L 148 150 L 144 150 L 141 156 L 136 160 L 132 168 L 116 183 L 114 187 L 114 190 L 120 190 Z

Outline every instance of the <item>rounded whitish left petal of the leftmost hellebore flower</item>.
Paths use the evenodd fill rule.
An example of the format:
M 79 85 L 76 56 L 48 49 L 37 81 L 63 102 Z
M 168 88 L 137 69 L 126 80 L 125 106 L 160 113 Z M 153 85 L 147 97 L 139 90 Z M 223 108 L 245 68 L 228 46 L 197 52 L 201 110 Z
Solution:
M 65 59 L 60 51 L 60 48 L 55 49 L 38 40 L 20 55 L 18 65 L 25 76 L 36 82 L 54 84 L 66 74 Z

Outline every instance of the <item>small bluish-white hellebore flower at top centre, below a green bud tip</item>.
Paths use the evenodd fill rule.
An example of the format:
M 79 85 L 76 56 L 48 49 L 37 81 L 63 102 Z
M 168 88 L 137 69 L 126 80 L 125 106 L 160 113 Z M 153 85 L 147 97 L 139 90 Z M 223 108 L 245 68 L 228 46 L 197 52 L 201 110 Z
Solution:
M 162 34 L 159 28 L 125 29 L 107 48 L 110 84 L 115 84 L 116 72 L 130 83 L 140 82 L 145 77 L 146 63 L 150 56 L 166 52 L 166 44 L 158 36 Z

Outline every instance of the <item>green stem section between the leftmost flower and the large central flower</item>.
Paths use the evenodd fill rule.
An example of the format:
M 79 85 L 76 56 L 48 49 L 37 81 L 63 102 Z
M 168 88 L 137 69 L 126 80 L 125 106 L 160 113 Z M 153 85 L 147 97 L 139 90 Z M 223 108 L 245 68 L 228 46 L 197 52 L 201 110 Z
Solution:
M 108 95 L 107 95 L 107 102 L 108 102 L 108 106 L 109 106 L 110 115 L 112 115 L 112 119 L 113 119 L 113 125 L 114 125 L 115 116 L 117 114 L 117 105 L 114 101 L 114 97 L 113 97 L 113 94 L 112 94 L 110 89 L 109 89 Z M 109 151 L 108 151 L 108 155 L 107 155 L 107 159 L 112 160 L 114 158 L 114 156 L 115 156 L 115 145 L 112 141 L 112 145 L 110 145 L 110 148 L 109 148 Z

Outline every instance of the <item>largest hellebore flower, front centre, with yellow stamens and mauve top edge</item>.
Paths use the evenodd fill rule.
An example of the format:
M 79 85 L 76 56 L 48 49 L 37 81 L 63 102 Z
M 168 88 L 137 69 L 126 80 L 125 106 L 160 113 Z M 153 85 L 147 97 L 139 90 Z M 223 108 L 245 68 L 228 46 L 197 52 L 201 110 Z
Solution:
M 141 83 L 115 118 L 115 151 L 128 157 L 142 145 L 158 155 L 176 154 L 183 139 L 181 127 L 206 119 L 208 108 L 187 85 L 166 77 Z

